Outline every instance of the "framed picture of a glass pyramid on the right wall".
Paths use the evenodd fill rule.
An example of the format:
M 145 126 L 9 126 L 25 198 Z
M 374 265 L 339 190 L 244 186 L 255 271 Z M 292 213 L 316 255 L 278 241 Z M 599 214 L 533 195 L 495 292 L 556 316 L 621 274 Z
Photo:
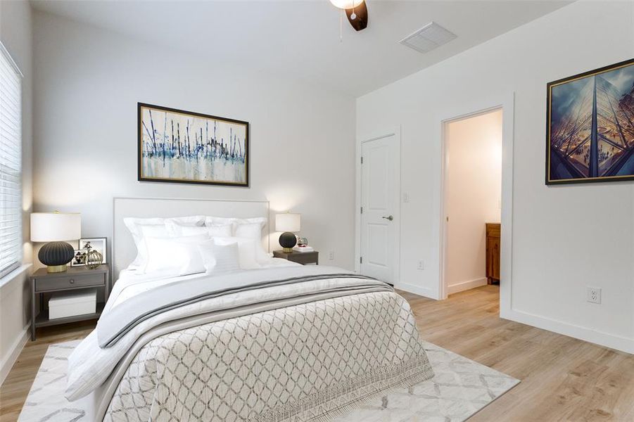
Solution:
M 634 59 L 547 85 L 546 184 L 634 180 Z

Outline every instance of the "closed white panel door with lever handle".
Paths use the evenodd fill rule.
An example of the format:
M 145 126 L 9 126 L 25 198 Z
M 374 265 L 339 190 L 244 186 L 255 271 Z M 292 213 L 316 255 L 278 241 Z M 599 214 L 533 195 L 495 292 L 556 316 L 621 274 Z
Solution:
M 400 158 L 395 135 L 362 143 L 361 274 L 394 284 Z

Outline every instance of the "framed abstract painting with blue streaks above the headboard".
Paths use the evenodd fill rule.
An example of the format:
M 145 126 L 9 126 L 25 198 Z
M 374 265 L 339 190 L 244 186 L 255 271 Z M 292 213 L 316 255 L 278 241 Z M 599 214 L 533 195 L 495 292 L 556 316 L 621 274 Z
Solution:
M 137 104 L 139 181 L 249 186 L 248 122 Z

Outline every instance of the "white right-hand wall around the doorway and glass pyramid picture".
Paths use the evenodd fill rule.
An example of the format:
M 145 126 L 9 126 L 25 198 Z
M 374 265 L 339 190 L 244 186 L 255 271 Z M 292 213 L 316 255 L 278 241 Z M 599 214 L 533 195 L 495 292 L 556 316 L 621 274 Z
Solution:
M 503 316 L 634 352 L 632 182 L 544 183 L 547 82 L 633 56 L 634 2 L 577 1 L 358 98 L 357 138 L 402 128 L 410 202 L 401 283 L 438 290 L 438 110 L 514 92 L 512 301 Z M 601 305 L 585 301 L 587 286 L 603 289 Z

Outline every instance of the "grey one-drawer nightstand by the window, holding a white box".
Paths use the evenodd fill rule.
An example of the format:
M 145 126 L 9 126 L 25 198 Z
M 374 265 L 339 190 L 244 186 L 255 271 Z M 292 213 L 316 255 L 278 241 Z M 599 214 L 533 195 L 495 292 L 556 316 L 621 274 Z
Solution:
M 60 273 L 47 273 L 46 268 L 40 268 L 35 271 L 31 276 L 31 340 L 35 340 L 35 328 L 99 319 L 105 305 L 104 302 L 108 300 L 108 295 L 110 294 L 108 272 L 107 264 L 102 264 L 96 269 L 69 267 L 66 271 Z M 104 302 L 97 302 L 97 312 L 49 319 L 49 310 L 44 309 L 44 293 L 99 287 L 103 287 Z M 35 298 L 37 295 L 39 295 L 39 313 L 36 314 Z

